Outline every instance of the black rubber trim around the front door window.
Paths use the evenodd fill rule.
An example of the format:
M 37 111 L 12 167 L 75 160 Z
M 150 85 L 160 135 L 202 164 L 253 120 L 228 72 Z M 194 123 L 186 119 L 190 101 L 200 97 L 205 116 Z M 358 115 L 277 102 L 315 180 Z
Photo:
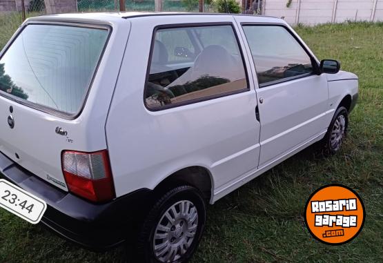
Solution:
M 300 41 L 297 38 L 297 36 L 295 34 L 293 34 L 293 32 L 291 32 L 291 30 L 286 25 L 284 25 L 283 23 L 242 22 L 242 23 L 240 23 L 240 25 L 242 27 L 242 31 L 243 32 L 244 32 L 244 26 L 280 26 L 280 27 L 284 28 L 295 39 L 295 41 L 297 41 L 297 43 L 299 43 L 299 46 L 301 46 L 303 48 L 304 52 L 306 52 L 306 55 L 308 55 L 308 57 L 310 58 L 311 66 L 313 66 L 313 72 L 309 72 L 309 73 L 305 73 L 305 74 L 298 75 L 298 76 L 293 76 L 293 77 L 286 77 L 284 79 L 275 80 L 275 81 L 269 81 L 269 82 L 266 82 L 266 83 L 259 84 L 258 73 L 257 73 L 257 66 L 255 65 L 255 61 L 253 59 L 253 54 L 251 54 L 251 59 L 252 59 L 253 64 L 254 64 L 255 74 L 257 75 L 258 88 L 266 88 L 266 87 L 273 86 L 273 85 L 276 85 L 276 84 L 282 84 L 284 82 L 293 81 L 295 79 L 302 79 L 302 78 L 305 78 L 305 77 L 310 77 L 310 76 L 313 76 L 313 75 L 318 75 L 317 71 L 319 70 L 319 65 L 317 64 L 317 61 L 316 61 L 315 57 L 313 57 L 313 55 L 311 55 L 311 53 L 308 52 L 307 48 L 303 45 L 302 41 Z M 251 52 L 251 48 L 250 48 L 250 45 L 248 44 L 248 39 L 246 37 L 246 33 L 245 32 L 244 32 L 244 36 L 246 38 L 246 44 L 248 45 L 248 48 L 249 48 L 249 50 Z

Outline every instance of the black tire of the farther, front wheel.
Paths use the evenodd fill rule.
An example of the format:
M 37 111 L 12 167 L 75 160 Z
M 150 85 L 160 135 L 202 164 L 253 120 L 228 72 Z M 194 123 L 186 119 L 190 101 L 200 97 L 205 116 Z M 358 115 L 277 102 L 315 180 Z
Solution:
M 337 140 L 336 139 L 334 140 L 334 136 L 332 135 L 332 133 L 333 131 L 335 132 L 335 130 L 337 130 L 337 125 L 339 125 L 339 121 L 340 121 L 339 118 L 344 119 L 344 127 L 343 126 L 340 127 L 340 129 L 342 130 L 342 135 L 340 135 L 341 137 L 339 137 L 339 141 L 335 143 L 335 141 Z M 326 155 L 334 155 L 335 153 L 340 151 L 340 148 L 344 141 L 344 137 L 346 137 L 347 127 L 348 127 L 348 111 L 346 108 L 341 106 L 337 108 L 337 110 L 335 111 L 333 119 L 331 120 L 331 123 L 328 126 L 327 133 L 322 139 L 322 145 L 324 148 L 324 153 Z

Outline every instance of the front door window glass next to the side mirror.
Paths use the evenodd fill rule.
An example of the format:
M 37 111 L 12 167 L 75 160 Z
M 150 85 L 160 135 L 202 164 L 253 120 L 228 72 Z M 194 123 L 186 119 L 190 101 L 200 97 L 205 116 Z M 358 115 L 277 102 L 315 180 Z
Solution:
M 244 26 L 244 32 L 261 87 L 313 72 L 310 57 L 286 28 Z

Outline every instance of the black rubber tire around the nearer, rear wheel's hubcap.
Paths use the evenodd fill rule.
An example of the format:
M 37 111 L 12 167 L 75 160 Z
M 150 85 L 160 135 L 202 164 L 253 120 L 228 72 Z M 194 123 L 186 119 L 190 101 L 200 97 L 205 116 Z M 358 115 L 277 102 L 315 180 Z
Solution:
M 184 203 L 181 204 L 181 201 Z M 162 222 L 162 224 L 164 224 L 164 222 L 167 222 L 168 226 L 173 225 L 170 222 L 170 220 L 167 219 L 168 217 L 165 217 L 164 214 L 168 211 L 168 209 L 170 209 L 170 207 L 174 206 L 180 209 L 181 205 L 190 204 L 188 202 L 192 203 L 194 206 L 190 205 L 189 209 L 186 209 L 186 206 L 183 206 L 183 207 L 185 207 L 185 211 L 188 210 L 190 211 L 190 213 L 193 211 L 194 212 L 193 215 L 195 215 L 195 209 L 196 209 L 197 220 L 193 221 L 194 222 L 193 225 L 192 225 L 193 222 L 188 223 L 186 222 L 187 220 L 183 221 L 186 223 L 182 222 L 182 225 L 180 222 L 182 221 L 182 219 L 180 221 L 175 220 L 173 223 L 175 224 L 175 226 L 172 226 L 172 228 L 168 228 L 170 229 L 170 231 L 165 232 L 167 237 L 164 240 L 169 240 L 171 237 L 175 241 L 173 241 L 174 243 L 168 241 L 169 242 L 168 244 L 170 246 L 175 247 L 177 246 L 177 244 L 178 246 L 179 244 L 181 244 L 182 238 L 186 238 L 186 240 L 190 242 L 190 245 L 188 246 L 188 249 L 185 249 L 186 252 L 184 254 L 179 253 L 181 255 L 177 255 L 177 257 L 179 257 L 177 258 L 177 260 L 164 261 L 166 260 L 164 259 L 164 257 L 166 257 L 164 255 L 168 255 L 168 253 L 165 253 L 164 255 L 162 255 L 163 258 L 156 257 L 155 255 L 154 246 L 155 244 L 157 244 L 155 242 L 160 242 L 159 244 L 164 244 L 164 242 L 166 242 L 164 240 L 154 240 L 155 233 L 156 231 L 158 231 L 157 225 L 160 222 Z M 176 204 L 178 205 L 175 206 Z M 178 210 L 178 212 L 180 211 Z M 172 213 L 172 215 L 174 214 Z M 195 223 L 196 221 L 197 221 L 197 226 Z M 176 224 L 176 222 L 179 222 L 179 223 Z M 191 222 L 191 220 L 189 222 Z M 136 261 L 145 262 L 145 263 L 188 262 L 188 260 L 190 260 L 190 258 L 193 256 L 193 253 L 197 249 L 199 240 L 202 237 L 202 232 L 204 231 L 205 222 L 206 222 L 206 204 L 205 204 L 202 193 L 197 188 L 194 188 L 193 186 L 179 186 L 177 188 L 173 188 L 172 190 L 168 191 L 167 193 L 165 193 L 158 199 L 158 201 L 155 203 L 153 208 L 150 209 L 150 212 L 148 213 L 146 220 L 144 220 L 144 224 L 142 225 L 141 232 L 139 233 L 138 242 L 137 242 Z M 189 229 L 188 226 L 194 226 L 193 229 L 196 229 L 195 231 L 193 230 L 193 233 L 195 233 L 193 240 L 190 240 L 189 239 L 190 237 L 186 237 L 188 236 L 186 233 L 188 232 L 188 230 L 185 231 L 185 229 L 186 228 Z M 173 229 L 173 231 L 171 229 Z M 182 231 L 182 232 L 179 232 L 179 231 Z M 177 243 L 177 240 L 180 240 L 180 241 Z M 182 245 L 182 248 L 183 249 L 186 248 L 186 244 L 185 246 Z M 177 247 L 177 251 L 181 251 L 181 247 Z

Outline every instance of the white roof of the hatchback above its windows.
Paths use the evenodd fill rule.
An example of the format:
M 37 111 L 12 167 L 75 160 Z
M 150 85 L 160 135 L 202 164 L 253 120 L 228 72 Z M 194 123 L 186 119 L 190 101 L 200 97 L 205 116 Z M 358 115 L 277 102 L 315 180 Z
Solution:
M 113 23 L 123 23 L 126 19 L 137 17 L 161 17 L 161 16 L 248 16 L 263 22 L 280 22 L 282 19 L 276 17 L 266 17 L 253 14 L 227 14 L 227 13 L 199 13 L 199 12 L 88 12 L 88 13 L 67 13 L 67 14 L 46 14 L 39 17 L 32 17 L 28 21 L 35 20 L 54 20 L 54 21 L 109 21 Z M 257 19 L 258 18 L 258 19 Z

